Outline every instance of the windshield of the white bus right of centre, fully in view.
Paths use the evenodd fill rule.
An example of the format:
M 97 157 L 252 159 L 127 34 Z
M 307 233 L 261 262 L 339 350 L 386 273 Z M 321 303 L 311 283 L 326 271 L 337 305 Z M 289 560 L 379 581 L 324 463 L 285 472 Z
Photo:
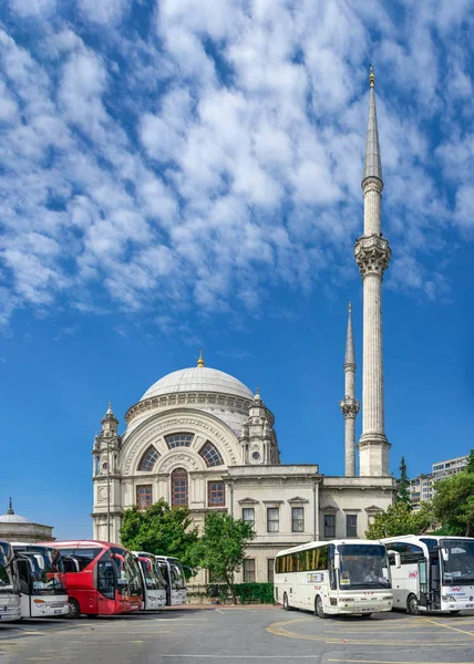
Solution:
M 385 547 L 339 544 L 341 590 L 390 588 Z

